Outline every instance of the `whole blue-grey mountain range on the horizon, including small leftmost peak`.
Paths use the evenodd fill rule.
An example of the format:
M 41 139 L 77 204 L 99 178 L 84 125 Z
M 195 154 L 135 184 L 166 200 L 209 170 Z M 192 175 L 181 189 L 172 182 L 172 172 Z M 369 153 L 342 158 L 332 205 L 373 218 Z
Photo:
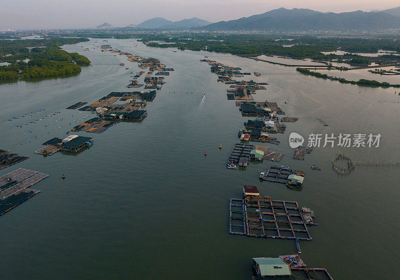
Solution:
M 97 29 L 116 28 L 104 22 Z M 205 31 L 382 31 L 400 30 L 400 6 L 380 11 L 320 12 L 303 8 L 278 8 L 229 21 L 211 23 L 197 17 L 179 21 L 154 17 L 124 28 L 192 29 Z

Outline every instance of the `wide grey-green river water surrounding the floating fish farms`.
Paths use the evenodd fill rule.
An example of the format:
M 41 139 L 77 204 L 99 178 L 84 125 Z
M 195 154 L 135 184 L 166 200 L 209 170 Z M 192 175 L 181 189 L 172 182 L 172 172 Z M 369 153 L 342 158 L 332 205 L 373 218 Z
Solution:
M 0 84 L 0 148 L 30 157 L 0 175 L 18 167 L 49 174 L 32 187 L 41 190 L 38 195 L 0 217 L 1 279 L 250 279 L 252 257 L 295 253 L 296 247 L 291 240 L 228 233 L 229 198 L 241 197 L 243 184 L 315 211 L 319 225 L 310 227 L 312 240 L 300 242 L 300 257 L 308 267 L 325 267 L 336 280 L 397 279 L 399 166 L 356 167 L 347 176 L 331 168 L 338 150 L 354 160 L 398 160 L 400 97 L 395 89 L 341 84 L 230 54 L 173 52 L 140 42 L 135 47 L 133 39 L 110 38 L 108 44 L 115 48 L 174 68 L 147 103 L 147 116 L 101 134 L 78 132 L 93 136 L 94 144 L 76 154 L 34 154 L 44 139 L 65 135 L 71 119 L 94 116 L 65 107 L 127 91 L 131 72 L 140 70 L 123 55 L 100 52 L 101 41 L 63 46 L 91 60 L 92 66 L 78 75 Z M 237 130 L 248 117 L 226 99 L 228 86 L 199 61 L 204 56 L 244 72 L 264 73 L 245 76 L 269 83 L 254 99 L 276 101 L 286 116 L 299 118 L 277 134 L 279 145 L 269 147 L 285 153 L 279 165 L 306 171 L 301 191 L 259 181 L 272 161 L 251 163 L 246 170 L 226 169 Z M 40 108 L 60 113 L 52 121 L 22 128 L 16 124 L 33 117 L 7 120 Z M 319 147 L 298 161 L 288 145 L 290 132 L 306 139 L 309 133 L 382 136 L 379 147 Z M 321 171 L 311 170 L 312 164 Z

